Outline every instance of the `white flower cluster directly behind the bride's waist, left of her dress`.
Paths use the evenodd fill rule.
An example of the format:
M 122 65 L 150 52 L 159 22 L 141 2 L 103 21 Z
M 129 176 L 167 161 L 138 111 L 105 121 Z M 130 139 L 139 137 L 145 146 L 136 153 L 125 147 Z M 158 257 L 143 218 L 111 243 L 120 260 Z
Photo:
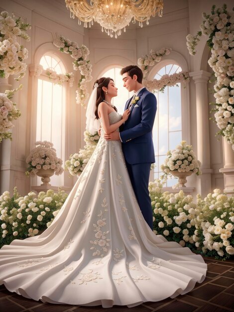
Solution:
M 68 170 L 71 175 L 79 175 L 84 170 L 100 138 L 97 132 L 92 135 L 87 130 L 84 132 L 84 136 L 86 142 L 84 149 L 70 155 L 69 159 L 65 161 L 65 170 Z

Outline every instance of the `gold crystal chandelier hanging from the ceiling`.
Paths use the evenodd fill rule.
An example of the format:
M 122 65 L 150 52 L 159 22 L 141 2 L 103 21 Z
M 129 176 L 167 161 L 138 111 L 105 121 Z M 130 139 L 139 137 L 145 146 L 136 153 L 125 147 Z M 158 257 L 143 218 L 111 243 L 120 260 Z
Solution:
M 84 27 L 93 25 L 93 20 L 102 26 L 102 31 L 117 38 L 132 19 L 143 27 L 144 21 L 149 24 L 150 16 L 162 16 L 163 0 L 65 0 L 70 9 L 70 17 L 78 17 L 78 24 Z M 89 2 L 89 3 L 88 3 Z

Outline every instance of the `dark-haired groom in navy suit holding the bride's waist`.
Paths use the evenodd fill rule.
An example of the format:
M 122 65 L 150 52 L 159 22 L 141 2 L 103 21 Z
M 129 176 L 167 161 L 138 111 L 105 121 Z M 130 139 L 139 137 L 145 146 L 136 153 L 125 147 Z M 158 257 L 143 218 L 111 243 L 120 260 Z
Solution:
M 122 68 L 123 86 L 134 95 L 126 102 L 125 110 L 130 109 L 130 116 L 122 131 L 106 134 L 106 140 L 120 140 L 140 210 L 145 221 L 153 229 L 153 212 L 149 197 L 149 172 L 155 162 L 152 129 L 157 110 L 157 101 L 151 92 L 142 85 L 143 73 L 138 66 Z

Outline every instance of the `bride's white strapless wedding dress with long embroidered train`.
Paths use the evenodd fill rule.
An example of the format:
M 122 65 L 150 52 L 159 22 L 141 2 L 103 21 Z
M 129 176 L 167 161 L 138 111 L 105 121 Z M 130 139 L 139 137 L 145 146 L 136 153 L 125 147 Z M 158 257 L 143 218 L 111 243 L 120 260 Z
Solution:
M 121 119 L 109 114 L 110 124 Z M 102 122 L 102 120 L 101 120 Z M 103 133 L 51 226 L 0 250 L 0 284 L 49 303 L 127 305 L 191 291 L 200 255 L 155 235 L 137 204 L 119 141 Z

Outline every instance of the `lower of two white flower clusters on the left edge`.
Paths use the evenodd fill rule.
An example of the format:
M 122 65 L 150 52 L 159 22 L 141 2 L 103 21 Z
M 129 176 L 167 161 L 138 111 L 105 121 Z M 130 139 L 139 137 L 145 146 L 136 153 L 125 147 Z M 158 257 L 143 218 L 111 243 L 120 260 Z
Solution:
M 11 132 L 10 129 L 14 127 L 12 124 L 13 119 L 17 119 L 21 116 L 19 109 L 16 108 L 16 103 L 10 101 L 15 91 L 22 88 L 20 85 L 17 89 L 6 90 L 5 93 L 0 93 L 0 142 L 2 139 L 10 139 Z

